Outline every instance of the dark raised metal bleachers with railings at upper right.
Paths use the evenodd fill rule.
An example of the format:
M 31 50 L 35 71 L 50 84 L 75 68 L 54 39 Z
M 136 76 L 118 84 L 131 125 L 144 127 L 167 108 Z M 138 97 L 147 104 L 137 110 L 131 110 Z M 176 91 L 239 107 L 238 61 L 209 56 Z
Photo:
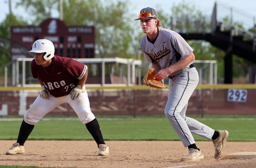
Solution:
M 185 24 L 185 26 L 184 26 Z M 211 17 L 171 17 L 171 29 L 185 40 L 205 40 L 225 52 L 224 83 L 232 83 L 232 54 L 256 63 L 255 16 L 216 2 Z

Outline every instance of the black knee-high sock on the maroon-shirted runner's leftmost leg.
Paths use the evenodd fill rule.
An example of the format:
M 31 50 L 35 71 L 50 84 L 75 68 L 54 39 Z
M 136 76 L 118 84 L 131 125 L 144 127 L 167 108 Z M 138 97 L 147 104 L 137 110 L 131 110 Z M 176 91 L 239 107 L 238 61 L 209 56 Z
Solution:
M 30 125 L 26 123 L 24 120 L 22 121 L 21 128 L 19 129 L 19 136 L 17 139 L 17 142 L 19 143 L 19 145 L 24 146 L 24 143 L 28 139 L 28 136 L 32 132 L 34 126 L 35 125 Z

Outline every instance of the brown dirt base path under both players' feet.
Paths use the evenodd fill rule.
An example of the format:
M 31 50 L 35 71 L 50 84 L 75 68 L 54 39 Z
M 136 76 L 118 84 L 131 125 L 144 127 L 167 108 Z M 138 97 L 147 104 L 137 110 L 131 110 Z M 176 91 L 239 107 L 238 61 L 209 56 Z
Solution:
M 106 141 L 109 156 L 97 156 L 94 141 L 33 141 L 25 153 L 5 155 L 14 141 L 0 140 L 0 165 L 71 168 L 253 168 L 256 159 L 224 159 L 225 154 L 255 152 L 256 142 L 227 142 L 225 153 L 214 159 L 211 141 L 197 142 L 204 160 L 180 162 L 188 150 L 180 141 Z

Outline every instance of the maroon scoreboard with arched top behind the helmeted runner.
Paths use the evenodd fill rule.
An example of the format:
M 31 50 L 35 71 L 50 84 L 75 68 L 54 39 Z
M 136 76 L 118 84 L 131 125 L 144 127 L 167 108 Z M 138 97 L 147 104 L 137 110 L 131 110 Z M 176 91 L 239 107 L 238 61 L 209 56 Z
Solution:
M 12 40 L 31 50 L 38 39 L 51 40 L 55 55 L 71 58 L 95 58 L 94 26 L 66 26 L 59 19 L 47 19 L 39 26 L 12 26 Z M 12 60 L 26 58 L 28 54 L 12 45 Z

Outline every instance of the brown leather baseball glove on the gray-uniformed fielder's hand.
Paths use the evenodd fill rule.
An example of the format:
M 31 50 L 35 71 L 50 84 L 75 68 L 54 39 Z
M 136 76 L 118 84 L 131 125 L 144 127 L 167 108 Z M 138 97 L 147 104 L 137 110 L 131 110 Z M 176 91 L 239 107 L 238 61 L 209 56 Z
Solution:
M 152 88 L 158 88 L 158 89 L 167 88 L 166 85 L 164 85 L 164 83 L 162 82 L 162 80 L 155 78 L 155 74 L 156 74 L 156 71 L 154 68 L 149 69 L 145 77 L 142 79 L 142 82 L 145 85 L 150 86 Z

